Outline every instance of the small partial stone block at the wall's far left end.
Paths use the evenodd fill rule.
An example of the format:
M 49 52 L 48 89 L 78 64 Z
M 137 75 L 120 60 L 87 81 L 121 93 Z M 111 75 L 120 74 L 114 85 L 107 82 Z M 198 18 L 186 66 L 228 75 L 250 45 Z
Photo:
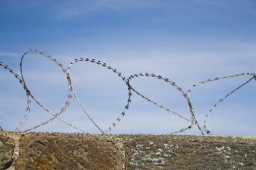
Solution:
M 11 138 L 0 134 L 0 170 L 11 166 L 14 146 L 15 144 Z

